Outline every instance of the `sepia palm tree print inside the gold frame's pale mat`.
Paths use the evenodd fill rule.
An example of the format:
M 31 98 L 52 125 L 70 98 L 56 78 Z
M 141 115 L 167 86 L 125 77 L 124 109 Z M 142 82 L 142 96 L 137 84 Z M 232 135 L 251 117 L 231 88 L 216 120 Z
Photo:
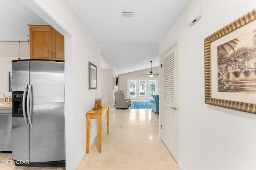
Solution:
M 217 47 L 218 92 L 256 94 L 256 29 Z

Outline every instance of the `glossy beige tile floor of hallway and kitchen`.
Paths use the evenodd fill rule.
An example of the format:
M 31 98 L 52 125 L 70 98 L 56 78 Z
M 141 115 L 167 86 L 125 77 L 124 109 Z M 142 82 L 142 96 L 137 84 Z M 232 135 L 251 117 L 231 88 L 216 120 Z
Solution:
M 158 119 L 159 115 L 151 109 L 110 109 L 109 134 L 106 133 L 106 114 L 102 118 L 101 153 L 97 137 L 77 170 L 180 170 L 159 138 Z M 0 160 L 12 160 L 12 154 L 0 153 Z M 65 170 L 65 167 L 0 164 L 0 170 L 12 169 Z

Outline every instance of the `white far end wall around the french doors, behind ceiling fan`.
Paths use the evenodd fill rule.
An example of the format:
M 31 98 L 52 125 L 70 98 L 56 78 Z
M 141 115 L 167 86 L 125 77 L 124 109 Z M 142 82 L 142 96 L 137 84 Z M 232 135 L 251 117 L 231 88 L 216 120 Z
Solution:
M 126 74 L 119 74 L 118 90 L 122 89 L 124 92 L 124 97 L 127 99 L 127 79 L 128 78 L 150 78 L 148 75 L 144 75 L 144 76 L 138 75 L 138 74 L 148 74 L 149 72 L 150 72 L 150 68 L 145 70 L 140 70 L 140 71 L 129 72 Z M 152 72 L 159 73 L 159 67 L 152 68 Z M 152 78 L 159 78 L 159 76 L 153 76 Z M 159 81 L 158 81 L 157 91 L 159 92 Z

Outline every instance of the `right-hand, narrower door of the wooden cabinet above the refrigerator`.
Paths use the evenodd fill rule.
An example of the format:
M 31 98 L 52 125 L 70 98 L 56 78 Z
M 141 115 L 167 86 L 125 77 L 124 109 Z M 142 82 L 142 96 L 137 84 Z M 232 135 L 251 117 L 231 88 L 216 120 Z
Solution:
M 64 36 L 53 29 L 52 36 L 52 48 L 53 48 L 53 60 L 64 60 Z

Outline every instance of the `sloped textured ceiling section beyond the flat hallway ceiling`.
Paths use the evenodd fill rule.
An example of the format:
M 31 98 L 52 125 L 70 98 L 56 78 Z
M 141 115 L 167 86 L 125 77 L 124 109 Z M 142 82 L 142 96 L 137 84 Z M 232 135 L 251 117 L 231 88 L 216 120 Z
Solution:
M 118 74 L 158 66 L 158 43 L 98 43 Z

